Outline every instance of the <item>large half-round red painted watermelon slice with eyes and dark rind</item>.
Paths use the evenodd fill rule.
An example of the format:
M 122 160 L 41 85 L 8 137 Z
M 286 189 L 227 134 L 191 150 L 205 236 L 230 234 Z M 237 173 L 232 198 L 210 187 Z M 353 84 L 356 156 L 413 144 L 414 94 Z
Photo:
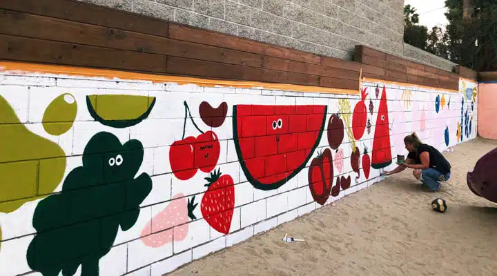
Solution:
M 327 106 L 233 106 L 233 140 L 249 182 L 274 190 L 311 159 L 326 123 Z

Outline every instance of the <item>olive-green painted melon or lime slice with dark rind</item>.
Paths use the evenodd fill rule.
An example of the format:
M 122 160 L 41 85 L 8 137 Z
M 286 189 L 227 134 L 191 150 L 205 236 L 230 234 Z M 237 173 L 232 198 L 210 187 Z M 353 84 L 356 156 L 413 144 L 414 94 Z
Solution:
M 88 95 L 86 105 L 90 115 L 104 126 L 127 128 L 148 117 L 155 97 L 135 95 Z

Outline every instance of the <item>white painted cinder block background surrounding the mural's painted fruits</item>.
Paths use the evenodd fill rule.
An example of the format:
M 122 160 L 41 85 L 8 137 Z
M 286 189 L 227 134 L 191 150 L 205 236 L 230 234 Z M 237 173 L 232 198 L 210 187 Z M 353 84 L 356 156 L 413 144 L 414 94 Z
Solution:
M 376 84 L 380 87 L 378 99 L 375 95 Z M 465 86 L 472 87 L 476 83 L 466 81 Z M 341 173 L 338 172 L 337 164 L 334 164 L 335 176 L 344 175 L 351 177 L 351 187 L 340 191 L 337 197 L 330 196 L 326 204 L 338 200 L 344 195 L 355 193 L 367 188 L 372 184 L 384 179 L 380 177 L 380 170 L 371 168 L 369 179 L 364 177 L 362 169 L 362 152 L 364 146 L 373 148 L 373 137 L 375 133 L 376 117 L 382 93 L 382 86 L 387 92 L 387 105 L 389 109 L 389 123 L 391 155 L 407 154 L 402 144 L 402 139 L 408 133 L 416 131 L 418 135 L 428 144 L 436 146 L 439 150 L 446 150 L 460 141 L 457 139 L 456 130 L 458 122 L 461 121 L 461 109 L 469 110 L 472 117 L 471 134 L 463 133 L 463 140 L 468 141 L 476 137 L 476 115 L 477 106 L 474 103 L 471 110 L 471 101 L 465 99 L 462 106 L 464 93 L 454 93 L 441 90 L 418 88 L 416 86 L 398 86 L 393 84 L 363 82 L 362 87 L 367 87 L 366 106 L 369 109 L 369 99 L 373 101 L 373 115 L 368 111 L 367 117 L 371 119 L 371 131 L 364 132 L 356 146 L 361 152 L 360 178 L 356 184 L 350 164 L 351 146 L 347 133 L 340 149 L 343 150 L 344 160 Z M 317 88 L 318 89 L 318 88 Z M 411 91 L 410 97 L 407 92 Z M 70 130 L 63 135 L 49 135 L 41 124 L 44 110 L 50 102 L 64 93 L 73 95 L 77 102 L 77 115 Z M 402 96 L 404 94 L 404 96 Z M 90 116 L 86 106 L 87 95 L 144 95 L 156 97 L 156 103 L 147 119 L 140 124 L 128 128 L 110 128 L 95 121 Z M 436 97 L 445 98 L 445 104 L 440 106 L 436 112 Z M 198 259 L 215 250 L 233 246 L 239 242 L 249 239 L 257 233 L 269 230 L 286 221 L 321 208 L 317 204 L 309 189 L 308 168 L 304 168 L 286 184 L 274 190 L 260 190 L 253 187 L 247 181 L 246 175 L 238 161 L 235 144 L 233 143 L 232 112 L 236 104 L 262 104 L 262 105 L 325 105 L 327 106 L 327 119 L 318 149 L 312 153 L 307 162 L 309 167 L 311 160 L 316 157 L 317 152 L 329 148 L 327 140 L 328 119 L 333 113 L 339 112 L 338 101 L 347 98 L 350 101 L 351 110 L 359 101 L 360 95 L 333 95 L 316 92 L 295 92 L 281 90 L 264 90 L 260 88 L 213 88 L 196 85 L 177 85 L 175 83 L 151 83 L 150 81 L 115 81 L 93 77 L 72 77 L 66 75 L 42 75 L 23 72 L 23 75 L 14 72 L 4 72 L 0 75 L 0 96 L 6 99 L 22 124 L 36 135 L 53 141 L 64 150 L 67 156 L 67 166 L 64 179 L 54 190 L 59 193 L 62 184 L 69 172 L 82 166 L 81 155 L 90 138 L 97 132 L 106 131 L 113 133 L 119 138 L 121 144 L 130 139 L 138 139 L 144 146 L 144 157 L 137 176 L 145 172 L 151 177 L 152 190 L 140 204 L 139 217 L 133 227 L 123 231 L 117 231 L 117 237 L 113 242 L 110 252 L 99 260 L 100 275 L 162 275 L 177 267 L 182 266 L 193 259 Z M 410 99 L 410 101 L 406 101 Z M 450 107 L 447 103 L 450 99 Z M 198 171 L 191 179 L 182 181 L 177 179 L 171 172 L 169 149 L 174 141 L 182 139 L 184 124 L 184 105 L 188 103 L 195 123 L 203 130 L 213 130 L 220 141 L 220 157 L 215 168 L 220 168 L 223 175 L 230 175 L 235 184 L 235 204 L 233 218 L 229 233 L 224 235 L 214 228 L 202 217 L 200 203 L 206 192 L 206 172 Z M 199 117 L 199 104 L 208 101 L 211 106 L 218 106 L 223 101 L 228 105 L 228 112 L 224 124 L 219 128 L 210 128 L 204 124 Z M 116 103 L 117 104 L 117 103 Z M 1 114 L 1 112 L 0 112 Z M 425 117 L 423 120 L 422 117 Z M 1 119 L 1 118 L 0 118 Z M 424 122 L 422 122 L 424 121 Z M 0 125 L 1 126 L 1 125 Z M 445 128 L 449 129 L 449 144 L 445 143 Z M 464 130 L 463 130 L 464 132 Z M 186 136 L 196 137 L 199 133 L 191 121 L 186 123 Z M 0 137 L 1 137 L 0 133 Z M 15 137 L 10 137 L 15 140 Z M 337 153 L 332 150 L 333 158 Z M 0 164 L 1 166 L 2 164 Z M 390 170 L 394 165 L 388 166 Z M 1 180 L 0 180 L 1 181 Z M 335 181 L 333 181 L 333 185 Z M 6 185 L 0 184 L 0 189 Z M 0 190 L 1 193 L 1 190 Z M 196 219 L 192 220 L 186 216 L 186 201 L 195 195 L 195 202 L 199 203 L 195 208 Z M 177 198 L 179 197 L 179 198 Z M 0 197 L 1 198 L 1 197 Z M 174 199 L 173 199 L 174 198 Z M 37 204 L 43 199 L 28 201 L 12 213 L 0 213 L 0 226 L 2 230 L 0 247 L 0 275 L 10 276 L 23 273 L 28 275 L 41 275 L 33 271 L 28 265 L 26 252 L 37 231 L 33 227 L 32 219 Z M 165 230 L 168 235 L 173 235 L 173 241 L 165 243 L 160 247 L 149 247 L 142 242 L 142 230 L 159 213 L 168 208 L 170 204 L 177 204 L 182 213 L 168 213 L 164 215 L 164 224 L 183 218 L 186 224 L 177 226 L 174 230 Z M 171 205 L 173 206 L 173 205 Z M 179 211 L 177 212 L 179 213 Z M 159 221 L 152 221 L 152 223 Z M 170 225 L 170 224 L 168 224 Z M 164 226 L 165 227 L 165 226 Z M 156 228 L 157 229 L 157 228 Z M 186 233 L 184 239 L 182 233 Z M 77 239 L 77 237 L 75 237 Z M 180 239 L 180 240 L 177 240 Z M 81 273 L 79 266 L 75 275 Z M 61 273 L 59 273 L 61 275 Z

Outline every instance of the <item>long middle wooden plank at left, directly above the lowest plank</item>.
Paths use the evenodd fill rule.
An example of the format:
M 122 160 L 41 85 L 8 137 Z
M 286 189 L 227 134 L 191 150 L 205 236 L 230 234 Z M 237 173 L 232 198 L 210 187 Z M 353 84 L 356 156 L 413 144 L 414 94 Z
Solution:
M 262 67 L 262 56 L 250 52 L 21 12 L 6 11 L 0 17 L 0 34 Z

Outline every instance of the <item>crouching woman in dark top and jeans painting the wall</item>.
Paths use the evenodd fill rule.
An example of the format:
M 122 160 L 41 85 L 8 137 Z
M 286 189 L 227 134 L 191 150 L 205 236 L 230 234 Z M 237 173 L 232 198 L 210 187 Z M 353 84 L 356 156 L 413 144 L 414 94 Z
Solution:
M 432 191 L 440 190 L 440 183 L 450 178 L 451 165 L 440 151 L 433 146 L 423 144 L 415 132 L 404 138 L 409 155 L 404 164 L 398 164 L 394 170 L 383 172 L 383 175 L 393 175 L 406 168 L 413 169 L 416 179 L 422 181 Z

